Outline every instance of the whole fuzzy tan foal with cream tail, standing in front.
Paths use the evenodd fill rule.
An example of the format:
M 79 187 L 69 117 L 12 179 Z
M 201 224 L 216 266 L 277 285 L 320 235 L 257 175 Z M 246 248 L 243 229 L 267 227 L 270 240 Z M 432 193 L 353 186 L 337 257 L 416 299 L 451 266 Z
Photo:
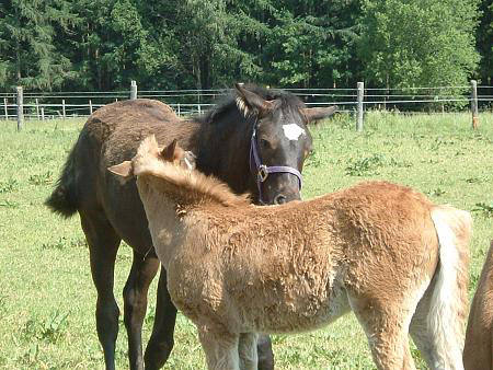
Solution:
M 462 369 L 468 212 L 387 182 L 256 207 L 160 155 L 151 137 L 111 170 L 138 176 L 170 294 L 210 369 L 254 369 L 255 333 L 316 329 L 349 310 L 379 369 L 414 368 L 409 333 L 432 369 Z

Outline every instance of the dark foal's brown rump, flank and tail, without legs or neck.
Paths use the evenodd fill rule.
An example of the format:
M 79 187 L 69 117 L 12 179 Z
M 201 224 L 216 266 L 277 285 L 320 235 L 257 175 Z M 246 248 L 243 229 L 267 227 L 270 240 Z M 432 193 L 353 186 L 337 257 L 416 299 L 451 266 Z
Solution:
M 47 205 L 67 217 L 77 210 L 107 220 L 128 244 L 148 248 L 147 219 L 135 181 L 122 185 L 106 169 L 130 160 L 152 134 L 160 144 L 176 138 L 188 148 L 194 132 L 193 123 L 181 120 L 159 101 L 108 104 L 88 118 Z

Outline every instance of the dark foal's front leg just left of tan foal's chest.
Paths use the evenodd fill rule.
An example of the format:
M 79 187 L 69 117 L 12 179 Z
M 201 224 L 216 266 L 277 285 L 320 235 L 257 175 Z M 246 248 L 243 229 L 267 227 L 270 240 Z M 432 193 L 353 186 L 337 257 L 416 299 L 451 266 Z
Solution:
M 147 370 L 160 369 L 168 360 L 173 348 L 174 325 L 176 322 L 176 308 L 171 302 L 168 292 L 167 271 L 161 266 L 158 285 L 158 299 L 156 304 L 154 325 L 147 344 L 145 362 Z

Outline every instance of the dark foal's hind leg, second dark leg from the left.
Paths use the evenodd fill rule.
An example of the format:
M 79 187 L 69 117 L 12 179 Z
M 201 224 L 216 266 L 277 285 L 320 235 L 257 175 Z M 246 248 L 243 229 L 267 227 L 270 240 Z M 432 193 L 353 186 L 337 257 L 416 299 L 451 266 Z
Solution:
M 144 256 L 134 251 L 130 274 L 124 288 L 124 321 L 128 333 L 130 369 L 144 369 L 142 323 L 147 310 L 149 285 L 159 268 L 156 255 Z

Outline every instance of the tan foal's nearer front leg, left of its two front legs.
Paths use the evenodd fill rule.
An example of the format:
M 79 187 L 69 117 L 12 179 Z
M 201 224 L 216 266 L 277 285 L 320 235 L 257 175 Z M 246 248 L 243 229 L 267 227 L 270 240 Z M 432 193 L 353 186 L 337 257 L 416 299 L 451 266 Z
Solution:
M 240 370 L 239 335 L 198 327 L 198 338 L 209 370 Z

